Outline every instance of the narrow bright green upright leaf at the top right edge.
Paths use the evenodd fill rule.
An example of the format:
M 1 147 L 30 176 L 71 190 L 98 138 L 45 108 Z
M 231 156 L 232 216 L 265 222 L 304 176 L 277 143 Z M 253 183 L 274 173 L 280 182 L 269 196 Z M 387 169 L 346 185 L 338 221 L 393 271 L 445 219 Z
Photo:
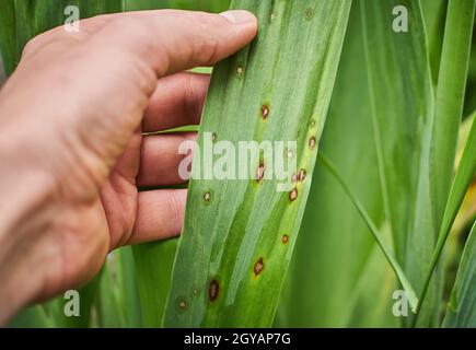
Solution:
M 448 5 L 431 149 L 431 185 L 437 228 L 443 218 L 453 177 L 475 8 L 475 0 L 450 1 Z

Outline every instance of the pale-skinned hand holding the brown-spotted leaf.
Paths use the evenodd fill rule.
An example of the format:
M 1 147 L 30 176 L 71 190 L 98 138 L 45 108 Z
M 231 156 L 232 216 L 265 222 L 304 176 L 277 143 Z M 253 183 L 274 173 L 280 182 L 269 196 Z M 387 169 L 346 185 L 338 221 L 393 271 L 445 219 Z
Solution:
M 179 234 L 177 152 L 199 122 L 211 66 L 249 43 L 245 11 L 103 15 L 28 43 L 0 91 L 0 325 L 78 288 L 108 252 Z

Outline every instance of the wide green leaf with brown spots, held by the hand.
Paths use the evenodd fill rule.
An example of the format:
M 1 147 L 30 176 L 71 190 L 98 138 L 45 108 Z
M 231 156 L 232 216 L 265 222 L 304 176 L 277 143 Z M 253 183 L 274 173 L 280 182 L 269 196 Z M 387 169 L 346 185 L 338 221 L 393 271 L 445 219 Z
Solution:
M 190 180 L 165 308 L 169 327 L 271 324 L 309 194 L 350 1 L 239 0 L 232 8 L 254 12 L 259 34 L 213 70 L 198 145 L 204 147 L 204 132 L 235 147 L 297 140 L 292 156 L 309 176 L 290 192 L 277 191 L 276 178 Z M 270 160 L 262 161 L 266 172 Z M 194 174 L 197 164 L 196 156 Z M 258 166 L 257 160 L 253 174 Z

